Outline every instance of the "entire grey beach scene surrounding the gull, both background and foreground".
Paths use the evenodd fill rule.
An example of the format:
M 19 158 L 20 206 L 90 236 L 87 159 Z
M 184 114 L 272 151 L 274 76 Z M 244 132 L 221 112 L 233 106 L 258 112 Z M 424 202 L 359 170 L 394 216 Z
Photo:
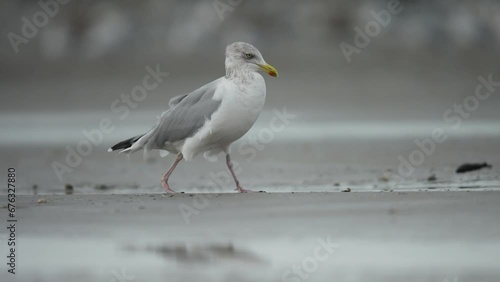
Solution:
M 17 194 L 38 194 L 16 202 L 17 281 L 302 281 L 285 271 L 327 238 L 340 248 L 308 281 L 500 281 L 496 192 L 405 193 L 500 187 L 500 90 L 475 96 L 479 77 L 500 81 L 500 1 L 394 3 L 0 1 L 0 182 L 13 167 Z M 170 198 L 173 156 L 107 152 L 223 76 L 235 41 L 280 74 L 233 146 L 243 187 L 353 193 Z M 168 76 L 131 100 L 157 68 Z M 492 168 L 455 172 L 476 162 Z M 169 183 L 231 193 L 230 179 L 198 156 Z

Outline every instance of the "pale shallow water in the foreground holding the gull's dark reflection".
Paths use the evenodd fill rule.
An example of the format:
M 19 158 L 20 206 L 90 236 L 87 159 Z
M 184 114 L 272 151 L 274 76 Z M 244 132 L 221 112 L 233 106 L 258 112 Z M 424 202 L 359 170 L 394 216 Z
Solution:
M 330 238 L 290 237 L 202 243 L 199 239 L 144 244 L 143 238 L 142 243 L 135 243 L 132 238 L 117 242 L 110 238 L 24 237 L 19 253 L 19 278 L 23 281 L 122 281 L 117 279 L 134 277 L 123 281 L 385 282 L 405 278 L 440 282 L 445 278 L 473 281 L 468 279 L 500 275 L 496 263 L 500 253 L 498 242 L 336 242 Z M 470 260 L 471 256 L 475 259 Z

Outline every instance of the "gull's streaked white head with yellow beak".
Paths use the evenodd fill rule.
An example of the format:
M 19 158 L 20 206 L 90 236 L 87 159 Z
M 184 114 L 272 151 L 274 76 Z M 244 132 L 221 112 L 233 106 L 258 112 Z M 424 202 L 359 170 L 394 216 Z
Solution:
M 252 44 L 235 42 L 226 47 L 226 72 L 263 70 L 277 77 L 278 70 L 264 61 L 262 54 Z

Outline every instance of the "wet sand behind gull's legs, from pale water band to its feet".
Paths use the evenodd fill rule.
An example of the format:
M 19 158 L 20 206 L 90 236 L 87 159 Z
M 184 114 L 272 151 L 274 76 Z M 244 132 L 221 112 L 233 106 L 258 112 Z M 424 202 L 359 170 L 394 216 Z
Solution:
M 131 116 L 128 122 L 117 124 L 114 132 L 103 134 L 102 142 L 93 146 L 89 155 L 82 155 L 76 163 L 74 155 L 71 163 L 67 161 L 67 148 L 74 151 L 79 142 L 87 141 L 82 129 L 93 129 L 91 125 L 105 115 L 45 115 L 37 119 L 37 124 L 29 118 L 12 119 L 17 122 L 14 124 L 9 119 L 0 121 L 11 133 L 0 137 L 0 169 L 16 168 L 17 193 L 25 195 L 64 194 L 66 185 L 74 187 L 74 194 L 162 192 L 159 179 L 173 156 L 161 158 L 153 151 L 145 159 L 141 152 L 129 157 L 107 152 L 119 140 L 146 130 L 154 113 Z M 264 135 L 272 118 L 269 111 L 263 113 L 251 131 L 232 146 L 238 177 L 247 189 L 334 192 L 350 188 L 357 192 L 500 187 L 498 122 L 470 120 L 460 130 L 448 130 L 446 142 L 435 144 L 434 152 L 424 155 L 415 142 L 429 139 L 435 128 L 443 126 L 439 122 L 328 122 L 318 117 L 308 121 L 311 116 L 301 115 L 282 131 Z M 424 159 L 412 167 L 414 171 L 408 171 L 401 158 L 408 161 L 416 151 Z M 466 162 L 487 162 L 492 168 L 455 173 Z M 61 170 L 61 179 L 54 163 L 68 166 L 68 171 Z M 0 180 L 4 177 L 1 174 Z M 174 190 L 188 193 L 228 193 L 234 189 L 223 157 L 210 162 L 201 155 L 189 163 L 181 162 L 170 184 Z

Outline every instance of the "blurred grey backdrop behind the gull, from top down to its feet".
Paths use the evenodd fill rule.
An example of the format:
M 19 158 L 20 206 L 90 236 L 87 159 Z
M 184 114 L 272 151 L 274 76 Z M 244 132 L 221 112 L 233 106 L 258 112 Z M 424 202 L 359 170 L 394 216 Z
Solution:
M 464 179 L 454 169 L 466 161 L 493 164 L 487 176 L 473 177 L 487 180 L 479 186 L 498 179 L 498 93 L 458 129 L 443 115 L 474 95 L 479 76 L 500 80 L 499 1 L 401 1 L 349 59 L 341 43 L 355 47 L 356 28 L 365 30 L 388 1 L 64 2 L 0 3 L 2 169 L 23 171 L 27 193 L 62 191 L 65 183 L 159 191 L 157 176 L 171 159 L 126 162 L 107 147 L 148 130 L 171 97 L 223 76 L 225 46 L 235 41 L 255 45 L 280 72 L 266 77 L 265 112 L 247 136 L 269 126 L 273 109 L 296 115 L 251 162 L 235 157 L 249 186 L 388 189 L 386 172 L 397 169 L 398 156 L 408 159 L 415 139 L 435 128 L 450 138 L 403 177 L 409 186 L 396 188 L 418 187 L 411 183 L 433 174 L 456 188 Z M 121 119 L 114 101 L 157 65 L 168 77 Z M 65 164 L 66 146 L 75 148 L 103 118 L 113 132 L 58 179 L 54 162 Z M 172 181 L 195 189 L 206 182 L 206 166 L 182 166 Z

